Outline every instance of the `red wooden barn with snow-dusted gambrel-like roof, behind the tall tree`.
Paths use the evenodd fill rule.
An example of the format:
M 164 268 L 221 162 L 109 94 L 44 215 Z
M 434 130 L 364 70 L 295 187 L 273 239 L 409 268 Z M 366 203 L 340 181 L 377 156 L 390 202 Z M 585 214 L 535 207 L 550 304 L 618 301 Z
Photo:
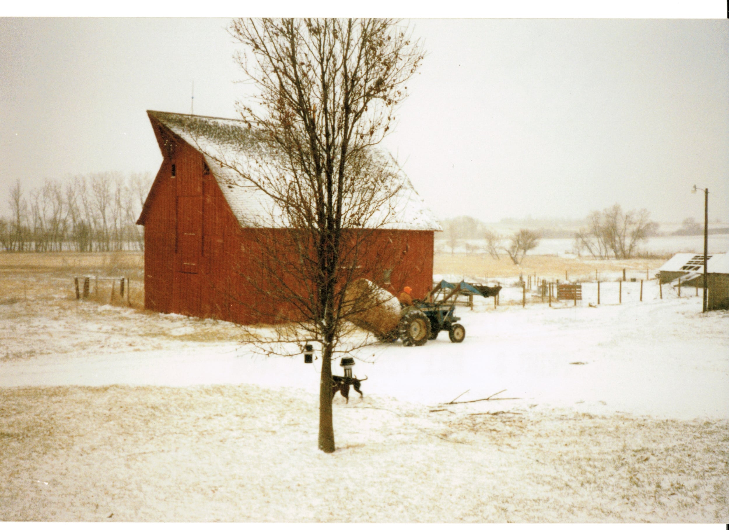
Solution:
M 249 187 L 230 185 L 235 179 L 230 166 L 209 155 L 225 148 L 246 157 L 245 142 L 239 141 L 246 126 L 224 118 L 147 114 L 164 160 L 137 221 L 144 225 L 145 308 L 240 324 L 271 321 L 260 315 L 275 313 L 272 302 L 240 274 L 241 268 L 249 277 L 255 274 L 246 243 L 260 230 L 250 222 L 260 200 Z M 232 151 L 231 138 L 236 139 Z M 402 179 L 400 207 L 377 238 L 398 259 L 384 263 L 379 277 L 370 279 L 395 295 L 407 284 L 413 297 L 424 297 L 432 284 L 433 233 L 441 228 L 408 177 L 392 166 Z M 270 230 L 275 237 L 276 229 Z M 269 311 L 252 311 L 266 306 Z

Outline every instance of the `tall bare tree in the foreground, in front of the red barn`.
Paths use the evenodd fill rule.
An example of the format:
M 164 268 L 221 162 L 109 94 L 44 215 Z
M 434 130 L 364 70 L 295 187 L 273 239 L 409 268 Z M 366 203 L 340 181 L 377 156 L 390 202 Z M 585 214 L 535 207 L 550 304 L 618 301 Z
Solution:
M 391 128 L 423 53 L 396 20 L 235 20 L 230 34 L 245 46 L 238 62 L 257 89 L 255 108 L 238 110 L 265 164 L 218 160 L 270 200 L 263 226 L 287 228 L 278 238 L 259 230 L 255 251 L 268 262 L 270 296 L 297 315 L 289 323 L 321 342 L 319 449 L 330 453 L 332 356 L 356 311 L 346 287 L 401 189 L 371 148 Z

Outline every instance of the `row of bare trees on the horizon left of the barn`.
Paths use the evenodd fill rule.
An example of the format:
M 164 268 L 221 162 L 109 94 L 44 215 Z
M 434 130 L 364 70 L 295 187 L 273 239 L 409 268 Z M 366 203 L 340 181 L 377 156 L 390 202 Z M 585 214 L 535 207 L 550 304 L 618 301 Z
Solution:
M 27 191 L 10 187 L 9 217 L 0 217 L 6 252 L 144 250 L 136 225 L 152 175 L 117 171 L 46 179 Z

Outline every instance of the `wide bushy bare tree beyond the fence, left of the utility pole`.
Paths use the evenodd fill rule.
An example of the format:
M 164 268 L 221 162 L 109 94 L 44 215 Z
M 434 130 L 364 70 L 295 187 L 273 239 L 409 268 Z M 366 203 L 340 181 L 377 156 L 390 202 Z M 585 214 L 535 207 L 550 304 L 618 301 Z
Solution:
M 620 260 L 630 259 L 639 243 L 658 229 L 658 224 L 650 221 L 646 209 L 623 212 L 615 204 L 602 212 L 593 211 L 588 217 L 588 227 L 575 235 L 579 249 L 586 249 L 593 257 L 604 260 L 612 257 Z

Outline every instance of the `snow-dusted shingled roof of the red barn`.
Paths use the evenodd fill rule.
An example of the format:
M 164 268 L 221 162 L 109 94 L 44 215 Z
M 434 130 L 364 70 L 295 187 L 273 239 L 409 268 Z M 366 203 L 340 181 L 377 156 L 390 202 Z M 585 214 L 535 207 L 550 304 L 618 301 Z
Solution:
M 261 160 L 274 158 L 270 150 L 262 149 L 257 134 L 245 122 L 172 112 L 147 111 L 147 114 L 205 157 L 241 226 L 280 226 L 283 216 L 276 211 L 273 201 L 241 176 L 241 172 L 250 171 Z M 372 155 L 381 171 L 391 175 L 391 181 L 397 185 L 392 200 L 378 210 L 379 219 L 373 220 L 376 226 L 390 230 L 443 230 L 389 152 L 373 149 Z

